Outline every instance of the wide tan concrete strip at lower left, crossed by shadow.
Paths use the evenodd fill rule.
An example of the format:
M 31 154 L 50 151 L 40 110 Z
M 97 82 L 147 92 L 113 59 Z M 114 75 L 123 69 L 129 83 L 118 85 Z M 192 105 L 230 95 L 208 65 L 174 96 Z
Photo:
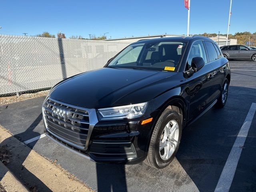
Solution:
M 10 162 L 6 167 L 4 166 L 4 171 L 2 171 L 2 166 L 0 166 L 0 177 L 3 175 L 5 178 L 11 174 L 16 176 L 28 188 L 32 187 L 33 190 L 37 191 L 92 192 L 88 186 L 80 182 L 68 171 L 62 169 L 60 165 L 50 162 L 1 127 L 0 144 L 5 145 L 6 150 L 11 151 L 12 154 Z M 0 182 L 6 188 L 6 191 L 23 192 L 21 189 L 16 190 L 14 188 L 16 184 L 12 182 L 11 178 L 6 178 L 5 180 L 4 178 L 0 178 Z M 9 183 L 10 187 L 13 187 L 10 190 L 5 187 Z M 25 188 L 24 191 L 27 192 L 28 190 Z

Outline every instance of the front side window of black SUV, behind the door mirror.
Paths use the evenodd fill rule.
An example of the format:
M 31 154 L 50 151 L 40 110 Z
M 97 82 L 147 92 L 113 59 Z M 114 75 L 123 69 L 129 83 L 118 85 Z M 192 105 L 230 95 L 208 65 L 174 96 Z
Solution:
M 190 49 L 190 53 L 188 55 L 188 62 L 187 62 L 186 70 L 190 69 L 191 62 L 194 57 L 202 57 L 204 59 L 204 62 L 207 63 L 206 52 L 205 52 L 204 44 L 202 41 L 196 41 L 192 45 L 192 47 Z

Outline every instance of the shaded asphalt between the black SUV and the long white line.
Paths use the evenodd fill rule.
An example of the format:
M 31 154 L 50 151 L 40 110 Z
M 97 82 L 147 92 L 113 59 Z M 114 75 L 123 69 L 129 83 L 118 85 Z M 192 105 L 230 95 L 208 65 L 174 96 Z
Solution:
M 199 191 L 215 190 L 236 136 L 256 102 L 255 95 L 256 89 L 230 86 L 224 108 L 212 108 L 183 130 L 176 158 Z

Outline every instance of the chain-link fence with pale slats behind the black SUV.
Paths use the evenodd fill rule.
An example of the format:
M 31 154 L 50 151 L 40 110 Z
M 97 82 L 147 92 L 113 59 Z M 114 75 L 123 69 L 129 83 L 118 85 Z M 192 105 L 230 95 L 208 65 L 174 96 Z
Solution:
M 0 96 L 43 90 L 75 74 L 101 68 L 134 41 L 0 35 Z

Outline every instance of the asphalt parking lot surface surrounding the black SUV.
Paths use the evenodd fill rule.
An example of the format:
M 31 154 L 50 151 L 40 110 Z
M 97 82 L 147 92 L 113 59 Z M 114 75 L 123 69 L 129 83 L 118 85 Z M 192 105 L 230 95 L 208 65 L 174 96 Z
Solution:
M 256 62 L 230 61 L 232 72 L 228 101 L 223 109 L 212 108 L 182 132 L 174 161 L 162 170 L 145 164 L 95 164 L 43 135 L 41 106 L 44 97 L 0 107 L 0 124 L 42 156 L 58 163 L 95 191 L 214 191 L 228 183 L 222 171 L 234 171 L 230 191 L 256 191 Z M 237 167 L 226 167 L 230 152 L 245 120 L 252 120 Z M 34 141 L 31 140 L 35 138 Z M 40 139 L 38 139 L 40 138 Z M 237 157 L 237 156 L 236 156 Z M 232 158 L 234 160 L 234 158 Z M 8 168 L 20 173 L 19 165 Z M 38 190 L 47 191 L 38 184 Z

